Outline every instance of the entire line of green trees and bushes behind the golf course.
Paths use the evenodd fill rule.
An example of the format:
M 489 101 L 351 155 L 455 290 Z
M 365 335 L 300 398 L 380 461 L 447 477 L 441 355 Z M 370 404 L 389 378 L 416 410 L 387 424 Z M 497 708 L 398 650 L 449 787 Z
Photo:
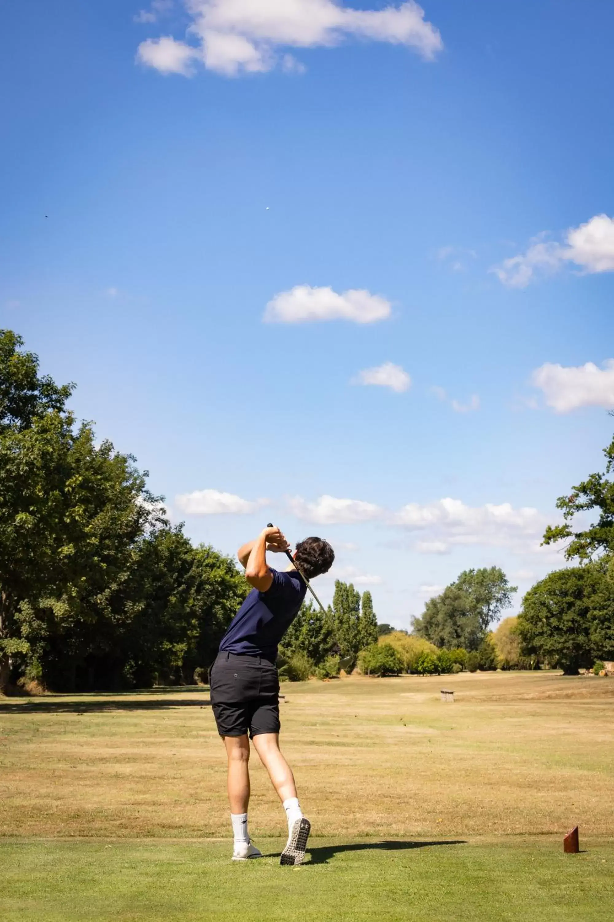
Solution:
M 0 691 L 17 680 L 80 691 L 204 677 L 249 585 L 232 558 L 169 524 L 132 455 L 75 420 L 73 390 L 0 330 Z M 577 564 L 534 585 L 517 619 L 491 630 L 517 591 L 494 566 L 460 573 L 429 599 L 412 635 L 378 624 L 371 594 L 337 581 L 327 612 L 304 604 L 286 633 L 282 678 L 356 665 L 378 675 L 576 673 L 614 659 L 614 440 L 605 455 L 605 474 L 560 498 L 563 523 L 544 535 L 565 540 Z

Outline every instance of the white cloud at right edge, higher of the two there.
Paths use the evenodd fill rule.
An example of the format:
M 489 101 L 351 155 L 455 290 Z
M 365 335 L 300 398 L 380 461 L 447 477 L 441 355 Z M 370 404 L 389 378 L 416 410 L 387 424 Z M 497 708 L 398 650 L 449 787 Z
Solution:
M 504 259 L 491 271 L 508 288 L 526 288 L 539 275 L 552 275 L 565 264 L 577 266 L 583 274 L 614 272 L 614 219 L 608 215 L 570 228 L 565 243 L 534 238 L 527 252 Z M 566 244 L 566 245 L 565 245 Z

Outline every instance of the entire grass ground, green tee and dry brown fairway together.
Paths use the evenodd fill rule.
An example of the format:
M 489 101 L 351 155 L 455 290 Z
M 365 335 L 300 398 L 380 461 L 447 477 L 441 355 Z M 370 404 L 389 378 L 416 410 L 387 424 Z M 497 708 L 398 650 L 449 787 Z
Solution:
M 440 688 L 455 691 L 444 703 Z M 208 690 L 0 699 L 0 920 L 569 920 L 614 905 L 614 681 L 554 672 L 286 683 L 312 822 L 252 757 L 230 861 Z M 562 836 L 580 826 L 580 855 Z

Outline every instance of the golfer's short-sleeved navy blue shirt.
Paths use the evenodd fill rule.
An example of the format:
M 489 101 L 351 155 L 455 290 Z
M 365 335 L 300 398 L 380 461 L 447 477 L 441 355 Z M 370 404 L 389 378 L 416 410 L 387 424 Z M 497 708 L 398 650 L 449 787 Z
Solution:
M 269 569 L 271 588 L 266 592 L 251 590 L 222 638 L 220 653 L 262 656 L 272 663 L 277 659 L 277 644 L 295 620 L 307 585 L 296 570 L 280 573 Z

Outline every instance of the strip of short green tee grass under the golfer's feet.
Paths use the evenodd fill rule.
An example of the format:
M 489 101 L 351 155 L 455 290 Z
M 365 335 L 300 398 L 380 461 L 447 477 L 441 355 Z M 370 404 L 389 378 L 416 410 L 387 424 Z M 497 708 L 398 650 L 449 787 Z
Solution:
M 228 861 L 227 842 L 0 845 L 3 922 L 411 922 L 611 918 L 614 847 L 563 855 L 556 840 L 364 842 L 316 839 L 309 863 Z M 274 855 L 272 854 L 274 853 Z

